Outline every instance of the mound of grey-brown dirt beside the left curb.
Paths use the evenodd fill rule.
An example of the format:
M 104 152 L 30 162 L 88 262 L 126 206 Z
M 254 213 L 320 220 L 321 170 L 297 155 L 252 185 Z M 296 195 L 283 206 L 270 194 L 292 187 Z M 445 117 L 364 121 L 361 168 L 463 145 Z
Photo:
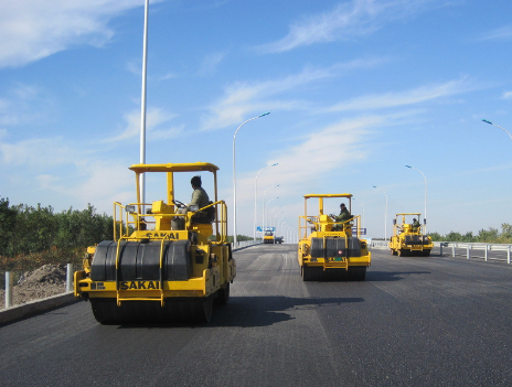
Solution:
M 13 305 L 26 303 L 66 291 L 66 265 L 44 265 L 26 272 L 13 287 Z M 6 292 L 0 290 L 0 309 L 6 307 Z

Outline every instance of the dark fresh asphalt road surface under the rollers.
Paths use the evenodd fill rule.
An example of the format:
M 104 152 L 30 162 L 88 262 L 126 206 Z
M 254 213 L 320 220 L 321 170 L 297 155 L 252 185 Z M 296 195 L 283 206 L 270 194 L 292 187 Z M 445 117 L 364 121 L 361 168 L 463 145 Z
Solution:
M 512 267 L 372 251 L 302 282 L 296 245 L 235 252 L 204 325 L 110 325 L 86 302 L 0 327 L 1 386 L 511 386 Z

